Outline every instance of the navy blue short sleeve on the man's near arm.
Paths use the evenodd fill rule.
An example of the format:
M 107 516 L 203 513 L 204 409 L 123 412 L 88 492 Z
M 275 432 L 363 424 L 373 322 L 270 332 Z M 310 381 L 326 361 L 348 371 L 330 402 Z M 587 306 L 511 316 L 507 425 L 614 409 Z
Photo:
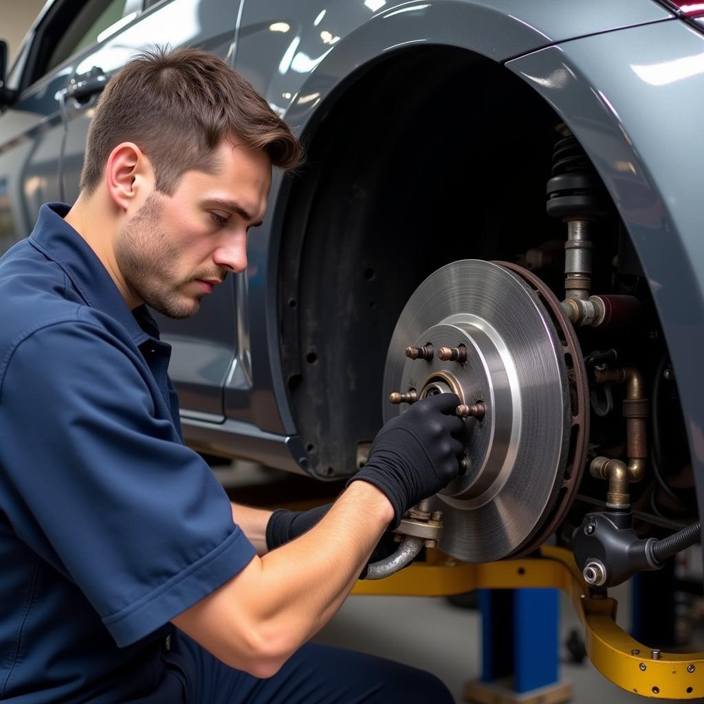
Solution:
M 3 508 L 118 646 L 256 554 L 210 467 L 158 417 L 140 357 L 93 322 L 57 322 L 18 344 L 0 377 Z

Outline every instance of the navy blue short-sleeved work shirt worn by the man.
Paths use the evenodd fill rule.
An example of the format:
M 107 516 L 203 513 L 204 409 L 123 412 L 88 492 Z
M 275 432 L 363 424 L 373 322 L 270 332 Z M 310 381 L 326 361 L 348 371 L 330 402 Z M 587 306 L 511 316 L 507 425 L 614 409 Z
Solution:
M 175 704 L 170 619 L 255 548 L 182 443 L 170 346 L 66 213 L 0 258 L 0 700 Z

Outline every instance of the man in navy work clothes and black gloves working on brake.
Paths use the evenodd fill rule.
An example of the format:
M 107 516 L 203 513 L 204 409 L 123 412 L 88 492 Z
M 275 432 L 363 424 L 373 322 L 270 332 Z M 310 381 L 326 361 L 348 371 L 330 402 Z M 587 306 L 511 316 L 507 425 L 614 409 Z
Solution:
M 182 442 L 145 304 L 187 318 L 244 271 L 272 166 L 300 156 L 220 59 L 146 52 L 99 100 L 75 206 L 42 206 L 0 259 L 0 700 L 451 701 L 427 672 L 306 641 L 457 474 L 457 396 L 386 424 L 305 513 L 232 505 Z

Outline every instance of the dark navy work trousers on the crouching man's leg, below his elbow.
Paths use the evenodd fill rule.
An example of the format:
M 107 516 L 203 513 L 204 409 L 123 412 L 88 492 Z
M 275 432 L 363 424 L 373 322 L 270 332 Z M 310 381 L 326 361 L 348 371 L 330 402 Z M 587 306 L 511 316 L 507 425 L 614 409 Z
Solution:
M 433 674 L 354 650 L 306 643 L 270 679 L 232 670 L 179 633 L 165 660 L 179 662 L 188 704 L 452 704 Z M 180 668 L 179 668 L 180 669 Z M 176 684 L 176 683 L 174 683 Z

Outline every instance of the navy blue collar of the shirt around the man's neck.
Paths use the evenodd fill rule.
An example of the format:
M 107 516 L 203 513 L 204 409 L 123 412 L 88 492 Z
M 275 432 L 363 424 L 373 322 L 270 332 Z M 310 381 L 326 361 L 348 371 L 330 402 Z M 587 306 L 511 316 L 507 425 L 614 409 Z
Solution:
M 96 253 L 63 219 L 69 210 L 65 203 L 44 203 L 39 208 L 30 243 L 63 269 L 87 306 L 122 323 L 134 344 L 141 345 L 150 337 L 158 339 L 156 322 L 146 306 L 139 306 L 134 312 L 127 307 Z

